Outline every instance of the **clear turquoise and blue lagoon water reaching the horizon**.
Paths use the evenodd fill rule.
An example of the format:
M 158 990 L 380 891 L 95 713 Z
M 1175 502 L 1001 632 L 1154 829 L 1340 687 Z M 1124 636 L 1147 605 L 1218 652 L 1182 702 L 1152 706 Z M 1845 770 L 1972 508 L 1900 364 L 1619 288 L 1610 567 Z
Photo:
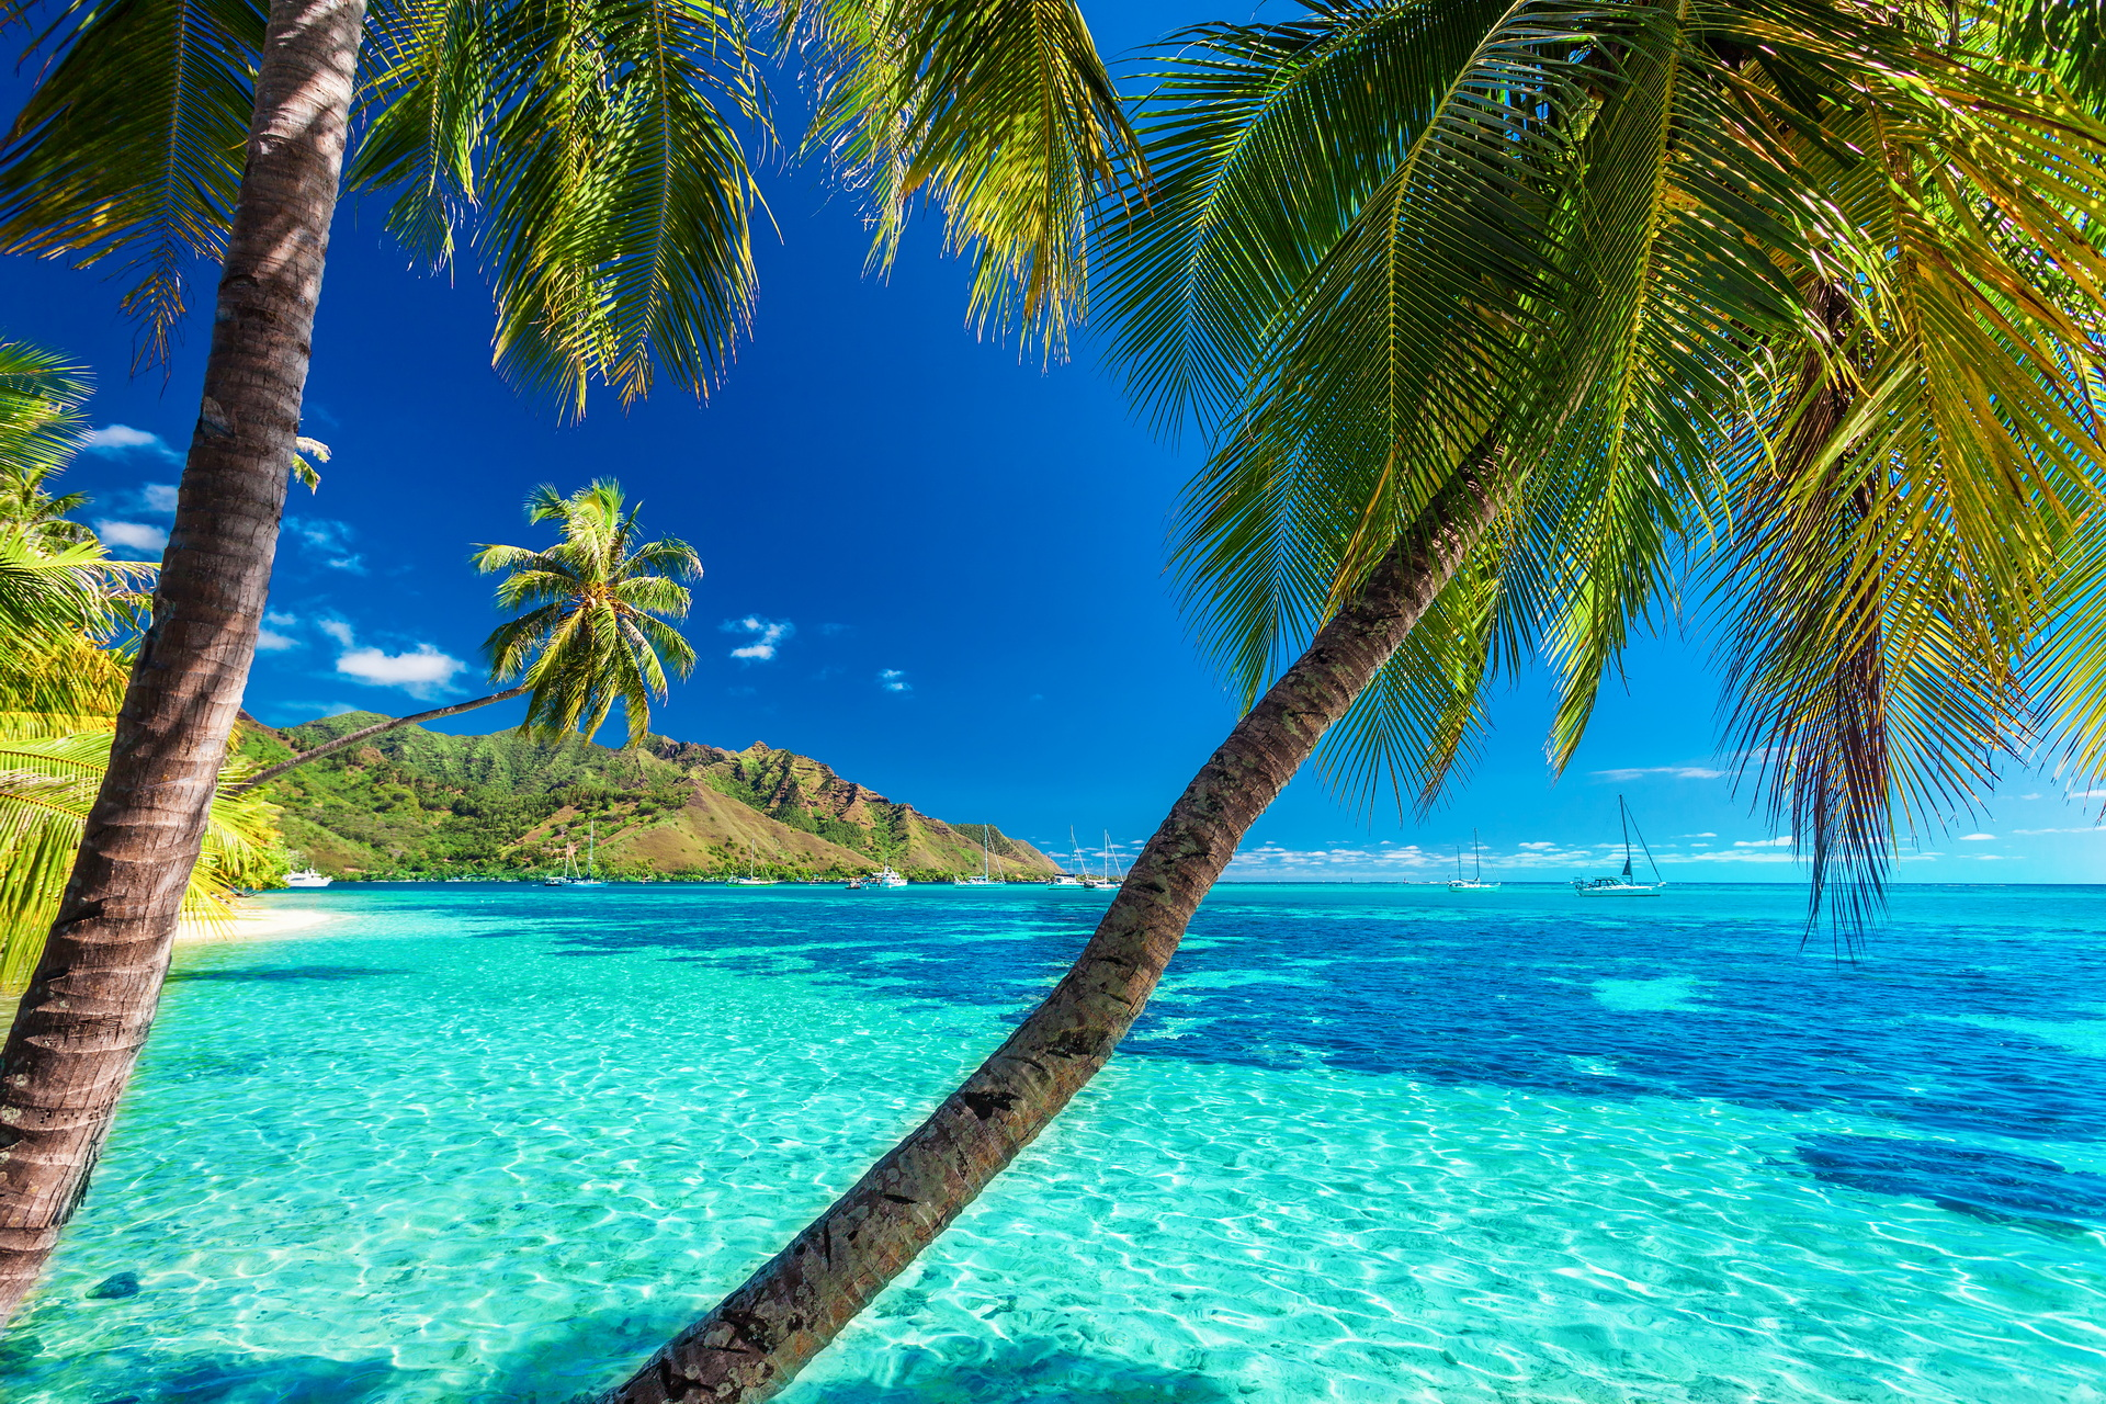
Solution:
M 786 1404 L 2102 1404 L 2106 888 L 1238 886 Z M 192 947 L 6 1404 L 562 1404 L 986 1055 L 1101 897 L 333 888 Z M 135 1273 L 131 1297 L 95 1297 Z

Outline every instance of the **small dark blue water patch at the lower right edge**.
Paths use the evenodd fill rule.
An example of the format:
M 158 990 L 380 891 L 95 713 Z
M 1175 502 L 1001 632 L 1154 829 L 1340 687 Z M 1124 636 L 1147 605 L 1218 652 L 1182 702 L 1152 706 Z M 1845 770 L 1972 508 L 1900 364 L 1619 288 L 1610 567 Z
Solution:
M 1980 1145 L 1887 1137 L 1803 1137 L 1799 1162 L 1830 1185 L 1929 1200 L 1990 1223 L 2106 1223 L 2106 1175 Z

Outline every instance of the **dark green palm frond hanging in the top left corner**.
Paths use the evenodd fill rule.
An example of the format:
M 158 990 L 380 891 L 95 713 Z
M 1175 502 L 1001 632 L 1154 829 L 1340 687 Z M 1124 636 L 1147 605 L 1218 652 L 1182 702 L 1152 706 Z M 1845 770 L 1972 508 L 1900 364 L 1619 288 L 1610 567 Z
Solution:
M 0 147 L 0 253 L 124 259 L 137 360 L 166 364 L 185 265 L 225 246 L 263 4 L 61 0 L 34 23 L 51 69 Z

